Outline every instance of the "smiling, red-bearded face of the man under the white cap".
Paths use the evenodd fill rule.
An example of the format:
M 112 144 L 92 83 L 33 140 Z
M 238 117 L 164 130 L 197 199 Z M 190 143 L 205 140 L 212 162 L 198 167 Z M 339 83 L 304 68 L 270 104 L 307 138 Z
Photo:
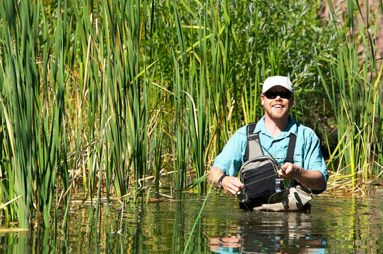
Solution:
M 271 87 L 267 92 L 289 92 L 285 87 L 276 85 Z M 267 94 L 265 92 L 265 94 Z M 261 102 L 265 108 L 265 114 L 273 120 L 283 119 L 288 117 L 290 109 L 293 106 L 294 96 L 292 95 L 289 99 L 284 99 L 280 95 L 275 98 L 268 98 L 265 95 L 261 95 Z

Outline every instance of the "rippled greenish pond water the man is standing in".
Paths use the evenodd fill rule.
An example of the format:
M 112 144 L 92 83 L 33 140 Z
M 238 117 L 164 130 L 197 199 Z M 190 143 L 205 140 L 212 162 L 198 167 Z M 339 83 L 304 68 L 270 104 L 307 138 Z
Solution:
M 182 253 L 203 196 L 129 205 L 107 217 L 79 208 L 69 229 L 0 233 L 0 253 Z M 163 198 L 161 198 L 163 199 Z M 382 253 L 383 188 L 368 195 L 314 196 L 311 213 L 245 212 L 238 200 L 211 193 L 186 253 Z M 4 229 L 4 228 L 3 228 Z

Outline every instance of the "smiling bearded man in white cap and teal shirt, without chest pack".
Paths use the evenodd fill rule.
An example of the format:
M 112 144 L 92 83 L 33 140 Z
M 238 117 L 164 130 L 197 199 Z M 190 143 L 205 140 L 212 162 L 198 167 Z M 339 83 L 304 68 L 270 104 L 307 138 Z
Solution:
M 278 174 L 281 179 L 296 179 L 302 186 L 318 194 L 326 190 L 329 174 L 320 150 L 319 138 L 312 129 L 296 123 L 289 115 L 294 102 L 293 84 L 287 77 L 273 76 L 266 78 L 262 87 L 261 104 L 264 117 L 259 120 L 254 133 L 259 132 L 259 140 L 265 155 L 273 156 L 282 164 Z M 208 180 L 216 188 L 223 188 L 226 193 L 235 195 L 244 188 L 237 175 L 243 163 L 247 145 L 247 126 L 235 132 L 216 157 Z M 286 162 L 290 133 L 297 135 L 294 150 L 294 164 Z

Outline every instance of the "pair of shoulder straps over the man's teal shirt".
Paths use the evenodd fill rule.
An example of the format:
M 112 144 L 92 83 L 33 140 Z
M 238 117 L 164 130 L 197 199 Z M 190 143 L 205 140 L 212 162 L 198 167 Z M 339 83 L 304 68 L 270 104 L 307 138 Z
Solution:
M 254 133 L 255 126 L 257 126 L 257 123 L 249 123 L 247 126 L 247 145 L 246 150 L 244 152 L 243 162 L 247 162 L 249 159 L 254 159 L 256 157 L 259 157 L 261 155 L 264 155 L 264 152 L 261 148 L 261 140 L 259 140 L 259 133 Z M 295 150 L 295 143 L 297 141 L 297 136 L 293 133 L 290 133 L 290 140 L 288 142 L 288 152 L 285 158 L 285 162 L 291 162 L 294 163 L 294 150 Z M 252 151 L 251 154 L 249 154 L 249 151 Z

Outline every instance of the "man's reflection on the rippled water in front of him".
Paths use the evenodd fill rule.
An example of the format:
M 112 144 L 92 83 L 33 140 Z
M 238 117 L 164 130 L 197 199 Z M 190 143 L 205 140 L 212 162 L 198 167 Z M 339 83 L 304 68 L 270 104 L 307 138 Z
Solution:
M 326 239 L 311 228 L 310 214 L 246 212 L 237 234 L 209 237 L 209 246 L 214 253 L 325 253 Z

